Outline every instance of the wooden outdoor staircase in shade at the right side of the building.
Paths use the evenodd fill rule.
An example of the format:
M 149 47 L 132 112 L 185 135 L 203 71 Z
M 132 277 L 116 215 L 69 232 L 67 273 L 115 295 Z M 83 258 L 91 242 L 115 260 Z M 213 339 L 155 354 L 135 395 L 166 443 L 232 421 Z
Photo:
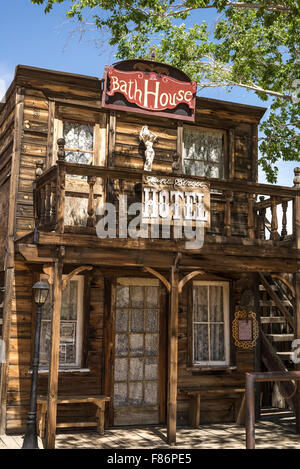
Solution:
M 292 277 L 287 274 L 259 274 L 261 357 L 267 371 L 292 371 L 294 340 Z M 294 409 L 294 384 L 282 382 L 268 389 L 268 405 Z

